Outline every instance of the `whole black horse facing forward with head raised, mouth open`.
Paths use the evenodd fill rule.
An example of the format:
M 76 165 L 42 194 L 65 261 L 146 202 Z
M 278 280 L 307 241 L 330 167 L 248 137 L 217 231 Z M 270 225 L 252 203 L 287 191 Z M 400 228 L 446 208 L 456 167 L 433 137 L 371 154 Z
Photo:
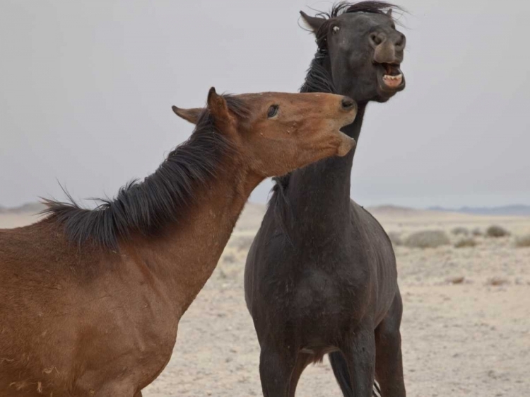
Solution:
M 358 140 L 368 102 L 405 87 L 405 36 L 380 1 L 302 13 L 318 52 L 301 91 L 350 96 L 358 117 L 343 129 Z M 276 179 L 245 268 L 245 298 L 257 331 L 266 397 L 293 397 L 300 374 L 329 354 L 344 396 L 405 396 L 401 296 L 390 240 L 350 200 L 354 151 Z

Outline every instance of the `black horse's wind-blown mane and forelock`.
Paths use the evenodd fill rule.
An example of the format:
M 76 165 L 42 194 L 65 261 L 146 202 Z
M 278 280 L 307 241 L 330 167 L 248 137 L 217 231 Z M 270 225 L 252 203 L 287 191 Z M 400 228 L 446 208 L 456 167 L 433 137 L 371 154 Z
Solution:
M 403 8 L 385 1 L 359 1 L 357 3 L 341 2 L 334 4 L 331 11 L 321 11 L 317 13 L 317 17 L 325 18 L 326 22 L 322 23 L 319 30 L 315 32 L 317 42 L 317 53 L 307 69 L 305 81 L 300 92 L 311 93 L 336 93 L 333 79 L 324 67 L 324 60 L 328 57 L 327 51 L 327 33 L 329 31 L 329 23 L 331 19 L 343 15 L 344 13 L 376 13 L 385 14 L 388 10 L 404 11 Z M 395 19 L 394 19 L 395 21 Z M 273 178 L 273 188 L 269 206 L 273 207 L 279 219 L 286 220 L 290 211 L 290 207 L 285 191 L 288 188 L 290 180 L 290 173 L 284 176 Z M 288 235 L 288 234 L 286 234 Z

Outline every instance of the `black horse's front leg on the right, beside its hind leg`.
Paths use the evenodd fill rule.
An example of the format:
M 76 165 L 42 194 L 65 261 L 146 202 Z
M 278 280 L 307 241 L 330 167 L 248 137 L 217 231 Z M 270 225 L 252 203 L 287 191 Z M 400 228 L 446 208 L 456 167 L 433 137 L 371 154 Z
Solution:
M 341 352 L 329 355 L 331 367 L 345 397 L 371 397 L 375 385 L 375 337 L 370 327 L 355 332 Z

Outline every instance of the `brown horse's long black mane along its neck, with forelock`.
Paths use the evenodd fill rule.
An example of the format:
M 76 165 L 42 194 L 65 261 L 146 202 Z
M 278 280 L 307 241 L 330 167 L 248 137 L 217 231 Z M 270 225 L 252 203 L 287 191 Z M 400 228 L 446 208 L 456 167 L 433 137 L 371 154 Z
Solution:
M 239 117 L 249 110 L 241 100 L 225 95 L 228 108 Z M 47 221 L 64 226 L 66 237 L 79 245 L 91 241 L 107 249 L 116 249 L 120 239 L 133 233 L 156 234 L 170 222 L 179 221 L 189 211 L 196 191 L 223 167 L 225 154 L 234 151 L 205 109 L 189 139 L 168 154 L 155 173 L 139 182 L 122 187 L 117 196 L 95 199 L 95 209 L 80 207 L 65 191 L 69 201 L 43 199 Z

